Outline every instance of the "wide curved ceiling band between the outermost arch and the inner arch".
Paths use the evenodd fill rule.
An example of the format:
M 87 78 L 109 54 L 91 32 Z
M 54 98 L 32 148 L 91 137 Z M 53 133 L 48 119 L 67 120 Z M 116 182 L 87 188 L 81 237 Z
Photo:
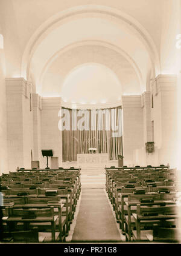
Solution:
M 121 22 L 118 24 L 110 17 L 105 19 L 105 17 L 98 18 L 94 15 L 84 18 L 84 15 L 78 15 L 76 19 L 74 17 L 71 21 L 64 21 L 59 27 L 49 32 L 34 50 L 30 68 L 37 88 L 42 86 L 37 82 L 47 60 L 67 45 L 92 39 L 114 45 L 129 55 L 141 70 L 143 84 L 140 86 L 143 87 L 146 84 L 147 73 L 153 68 L 153 59 L 138 35 L 135 35 L 127 25 Z

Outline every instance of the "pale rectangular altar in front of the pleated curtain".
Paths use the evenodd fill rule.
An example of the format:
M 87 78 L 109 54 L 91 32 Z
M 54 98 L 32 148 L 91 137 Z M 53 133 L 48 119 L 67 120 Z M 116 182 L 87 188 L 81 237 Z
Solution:
M 84 153 L 77 154 L 78 166 L 106 166 L 109 162 L 107 153 Z

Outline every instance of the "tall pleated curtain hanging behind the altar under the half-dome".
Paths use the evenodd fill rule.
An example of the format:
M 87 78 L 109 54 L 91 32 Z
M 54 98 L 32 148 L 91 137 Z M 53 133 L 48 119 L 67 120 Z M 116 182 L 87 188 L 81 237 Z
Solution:
M 122 152 L 122 108 L 78 110 L 65 109 L 62 129 L 62 157 L 65 161 L 77 161 L 78 153 L 89 153 L 89 147 L 97 153 L 109 153 L 110 160 L 118 160 Z

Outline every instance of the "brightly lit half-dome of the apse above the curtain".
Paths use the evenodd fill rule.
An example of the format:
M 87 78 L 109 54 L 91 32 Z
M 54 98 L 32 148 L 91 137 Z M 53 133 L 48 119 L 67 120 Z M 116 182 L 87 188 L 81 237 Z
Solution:
M 68 73 L 60 95 L 63 101 L 70 103 L 112 103 L 121 99 L 122 87 L 111 69 L 102 64 L 86 63 Z

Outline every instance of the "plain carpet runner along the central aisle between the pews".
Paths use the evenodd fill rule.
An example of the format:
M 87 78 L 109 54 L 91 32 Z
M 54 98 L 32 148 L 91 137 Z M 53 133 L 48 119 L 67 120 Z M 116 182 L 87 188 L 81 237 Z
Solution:
M 72 236 L 77 241 L 121 241 L 104 189 L 83 189 Z

